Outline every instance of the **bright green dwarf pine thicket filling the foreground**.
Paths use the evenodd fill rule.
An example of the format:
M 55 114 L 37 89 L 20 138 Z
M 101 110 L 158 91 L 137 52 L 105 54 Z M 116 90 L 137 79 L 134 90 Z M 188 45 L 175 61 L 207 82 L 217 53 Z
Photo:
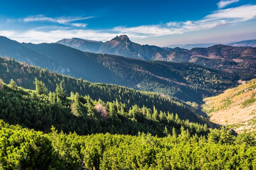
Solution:
M 2 169 L 255 170 L 255 135 L 227 128 L 191 135 L 183 127 L 167 137 L 43 132 L 0 120 Z M 40 159 L 38 159 L 40 157 Z

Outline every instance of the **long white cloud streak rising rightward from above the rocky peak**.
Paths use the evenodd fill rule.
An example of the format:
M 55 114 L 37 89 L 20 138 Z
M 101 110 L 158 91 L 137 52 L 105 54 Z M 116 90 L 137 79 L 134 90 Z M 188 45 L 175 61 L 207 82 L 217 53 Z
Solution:
M 168 22 L 158 25 L 136 27 L 117 26 L 112 31 L 144 36 L 182 34 L 189 31 L 212 29 L 218 26 L 233 25 L 256 17 L 256 5 L 221 9 L 197 21 Z

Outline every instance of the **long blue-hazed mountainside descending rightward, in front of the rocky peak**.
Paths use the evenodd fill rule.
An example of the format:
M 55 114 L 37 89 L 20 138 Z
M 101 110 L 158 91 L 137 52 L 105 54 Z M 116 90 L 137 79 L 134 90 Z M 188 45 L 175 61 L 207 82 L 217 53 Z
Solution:
M 45 67 L 49 71 L 81 77 L 90 82 L 163 93 L 189 102 L 200 102 L 203 97 L 220 93 L 223 89 L 233 86 L 232 81 L 235 78 L 234 74 L 214 71 L 196 64 L 144 61 L 117 55 L 88 53 L 56 43 L 18 43 L 18 46 L 44 56 L 44 63 L 48 63 Z M 10 53 L 12 54 L 13 50 Z M 20 56 L 29 58 L 22 62 L 37 59 L 37 55 L 25 52 L 20 53 Z M 22 60 L 17 55 L 13 58 Z M 42 67 L 40 63 L 37 66 Z

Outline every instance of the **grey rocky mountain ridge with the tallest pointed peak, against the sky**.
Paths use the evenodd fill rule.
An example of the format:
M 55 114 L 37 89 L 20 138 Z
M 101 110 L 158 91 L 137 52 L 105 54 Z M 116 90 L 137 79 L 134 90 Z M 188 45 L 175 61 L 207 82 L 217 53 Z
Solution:
M 56 42 L 70 46 L 81 51 L 100 53 L 100 54 L 114 54 L 124 57 L 138 58 L 142 60 L 155 60 L 157 53 L 164 53 L 167 51 L 187 51 L 181 48 L 158 47 L 151 45 L 140 45 L 131 42 L 127 35 L 116 36 L 107 42 L 97 42 L 90 40 L 83 40 L 79 38 L 63 39 Z

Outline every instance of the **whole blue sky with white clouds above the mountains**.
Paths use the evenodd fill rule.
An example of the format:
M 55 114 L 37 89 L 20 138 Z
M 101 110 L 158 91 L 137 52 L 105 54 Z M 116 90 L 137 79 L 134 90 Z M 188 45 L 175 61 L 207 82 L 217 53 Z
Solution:
M 156 46 L 256 39 L 256 0 L 6 0 L 0 35 L 18 42 L 128 35 Z

